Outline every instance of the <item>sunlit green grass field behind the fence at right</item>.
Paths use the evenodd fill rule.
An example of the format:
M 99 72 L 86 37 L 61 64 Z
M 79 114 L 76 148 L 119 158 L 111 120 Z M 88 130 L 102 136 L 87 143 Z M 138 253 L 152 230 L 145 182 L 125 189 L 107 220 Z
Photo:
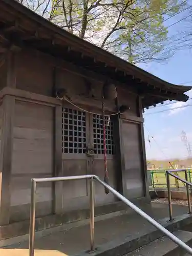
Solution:
M 166 173 L 165 173 L 165 170 L 148 170 L 148 172 L 151 172 L 152 184 L 154 183 L 154 185 L 153 185 L 154 187 L 166 187 Z M 187 170 L 187 173 L 188 173 L 188 181 L 192 181 L 191 170 L 190 170 L 190 173 Z M 180 176 L 182 179 L 185 179 L 185 173 L 184 172 L 179 172 L 178 176 Z M 191 177 L 191 180 L 190 180 L 190 177 Z M 170 185 L 172 187 L 176 186 L 176 179 L 172 176 L 170 176 Z M 181 181 L 179 181 L 179 187 L 184 187 L 184 184 Z

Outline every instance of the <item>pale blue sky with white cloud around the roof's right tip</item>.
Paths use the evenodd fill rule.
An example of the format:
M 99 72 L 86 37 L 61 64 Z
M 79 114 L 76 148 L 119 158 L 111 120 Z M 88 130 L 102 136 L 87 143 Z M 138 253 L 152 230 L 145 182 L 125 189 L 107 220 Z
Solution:
M 191 3 L 190 3 L 191 2 Z M 192 4 L 192 0 L 188 1 Z M 166 26 L 169 26 L 190 13 L 184 11 L 173 18 L 167 20 Z M 172 26 L 169 29 L 169 35 L 180 35 L 183 37 L 183 31 L 189 29 L 192 25 L 192 17 Z M 191 31 L 192 34 L 192 31 Z M 177 45 L 177 42 L 174 43 Z M 191 36 L 192 46 L 192 36 Z M 192 48 L 192 47 L 191 47 Z M 166 62 L 153 62 L 147 65 L 139 65 L 148 72 L 174 84 L 183 84 L 192 86 L 192 50 L 185 49 L 176 52 L 174 57 Z M 187 93 L 192 98 L 192 91 Z M 174 102 L 174 101 L 172 101 Z M 164 102 L 172 103 L 170 101 Z M 177 106 L 191 104 L 186 108 L 175 109 Z M 170 110 L 157 113 L 163 110 Z M 144 113 L 145 119 L 145 146 L 147 159 L 170 159 L 188 157 L 187 149 L 181 141 L 181 132 L 185 131 L 188 142 L 191 143 L 192 150 L 192 100 L 187 102 L 176 102 L 167 106 L 156 106 Z M 148 142 L 150 139 L 151 142 Z

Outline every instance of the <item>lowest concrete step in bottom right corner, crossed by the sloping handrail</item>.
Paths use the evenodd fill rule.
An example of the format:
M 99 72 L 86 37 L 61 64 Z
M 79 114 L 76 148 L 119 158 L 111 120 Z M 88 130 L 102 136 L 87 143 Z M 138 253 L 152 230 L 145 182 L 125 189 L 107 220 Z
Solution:
M 192 232 L 177 230 L 173 232 L 176 237 L 181 239 L 184 243 L 192 246 Z M 182 248 L 171 241 L 167 237 L 159 238 L 143 247 L 140 247 L 133 252 L 124 256 L 189 256 Z

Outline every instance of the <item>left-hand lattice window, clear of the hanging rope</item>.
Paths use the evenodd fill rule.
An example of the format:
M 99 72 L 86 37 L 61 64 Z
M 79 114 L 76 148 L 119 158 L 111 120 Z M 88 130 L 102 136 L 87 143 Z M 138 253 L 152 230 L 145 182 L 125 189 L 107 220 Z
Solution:
M 86 113 L 62 108 L 62 153 L 86 153 Z

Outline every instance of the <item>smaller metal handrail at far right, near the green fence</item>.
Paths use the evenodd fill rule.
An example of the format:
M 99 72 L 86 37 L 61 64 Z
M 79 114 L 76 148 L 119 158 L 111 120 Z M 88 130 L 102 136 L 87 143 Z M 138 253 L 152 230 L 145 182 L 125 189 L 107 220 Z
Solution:
M 173 173 L 178 173 L 178 172 L 185 172 L 185 180 L 182 179 L 181 177 L 173 174 Z M 168 209 L 169 209 L 169 220 L 173 220 L 173 209 L 172 209 L 172 194 L 170 191 L 170 179 L 169 176 L 172 176 L 183 183 L 186 184 L 186 191 L 187 191 L 187 201 L 188 201 L 188 210 L 189 214 L 191 214 L 191 203 L 190 203 L 190 193 L 189 193 L 189 186 L 192 187 L 192 183 L 188 181 L 188 176 L 187 176 L 187 169 L 180 169 L 180 170 L 167 170 L 166 171 L 166 180 L 167 180 L 167 194 L 168 194 Z

